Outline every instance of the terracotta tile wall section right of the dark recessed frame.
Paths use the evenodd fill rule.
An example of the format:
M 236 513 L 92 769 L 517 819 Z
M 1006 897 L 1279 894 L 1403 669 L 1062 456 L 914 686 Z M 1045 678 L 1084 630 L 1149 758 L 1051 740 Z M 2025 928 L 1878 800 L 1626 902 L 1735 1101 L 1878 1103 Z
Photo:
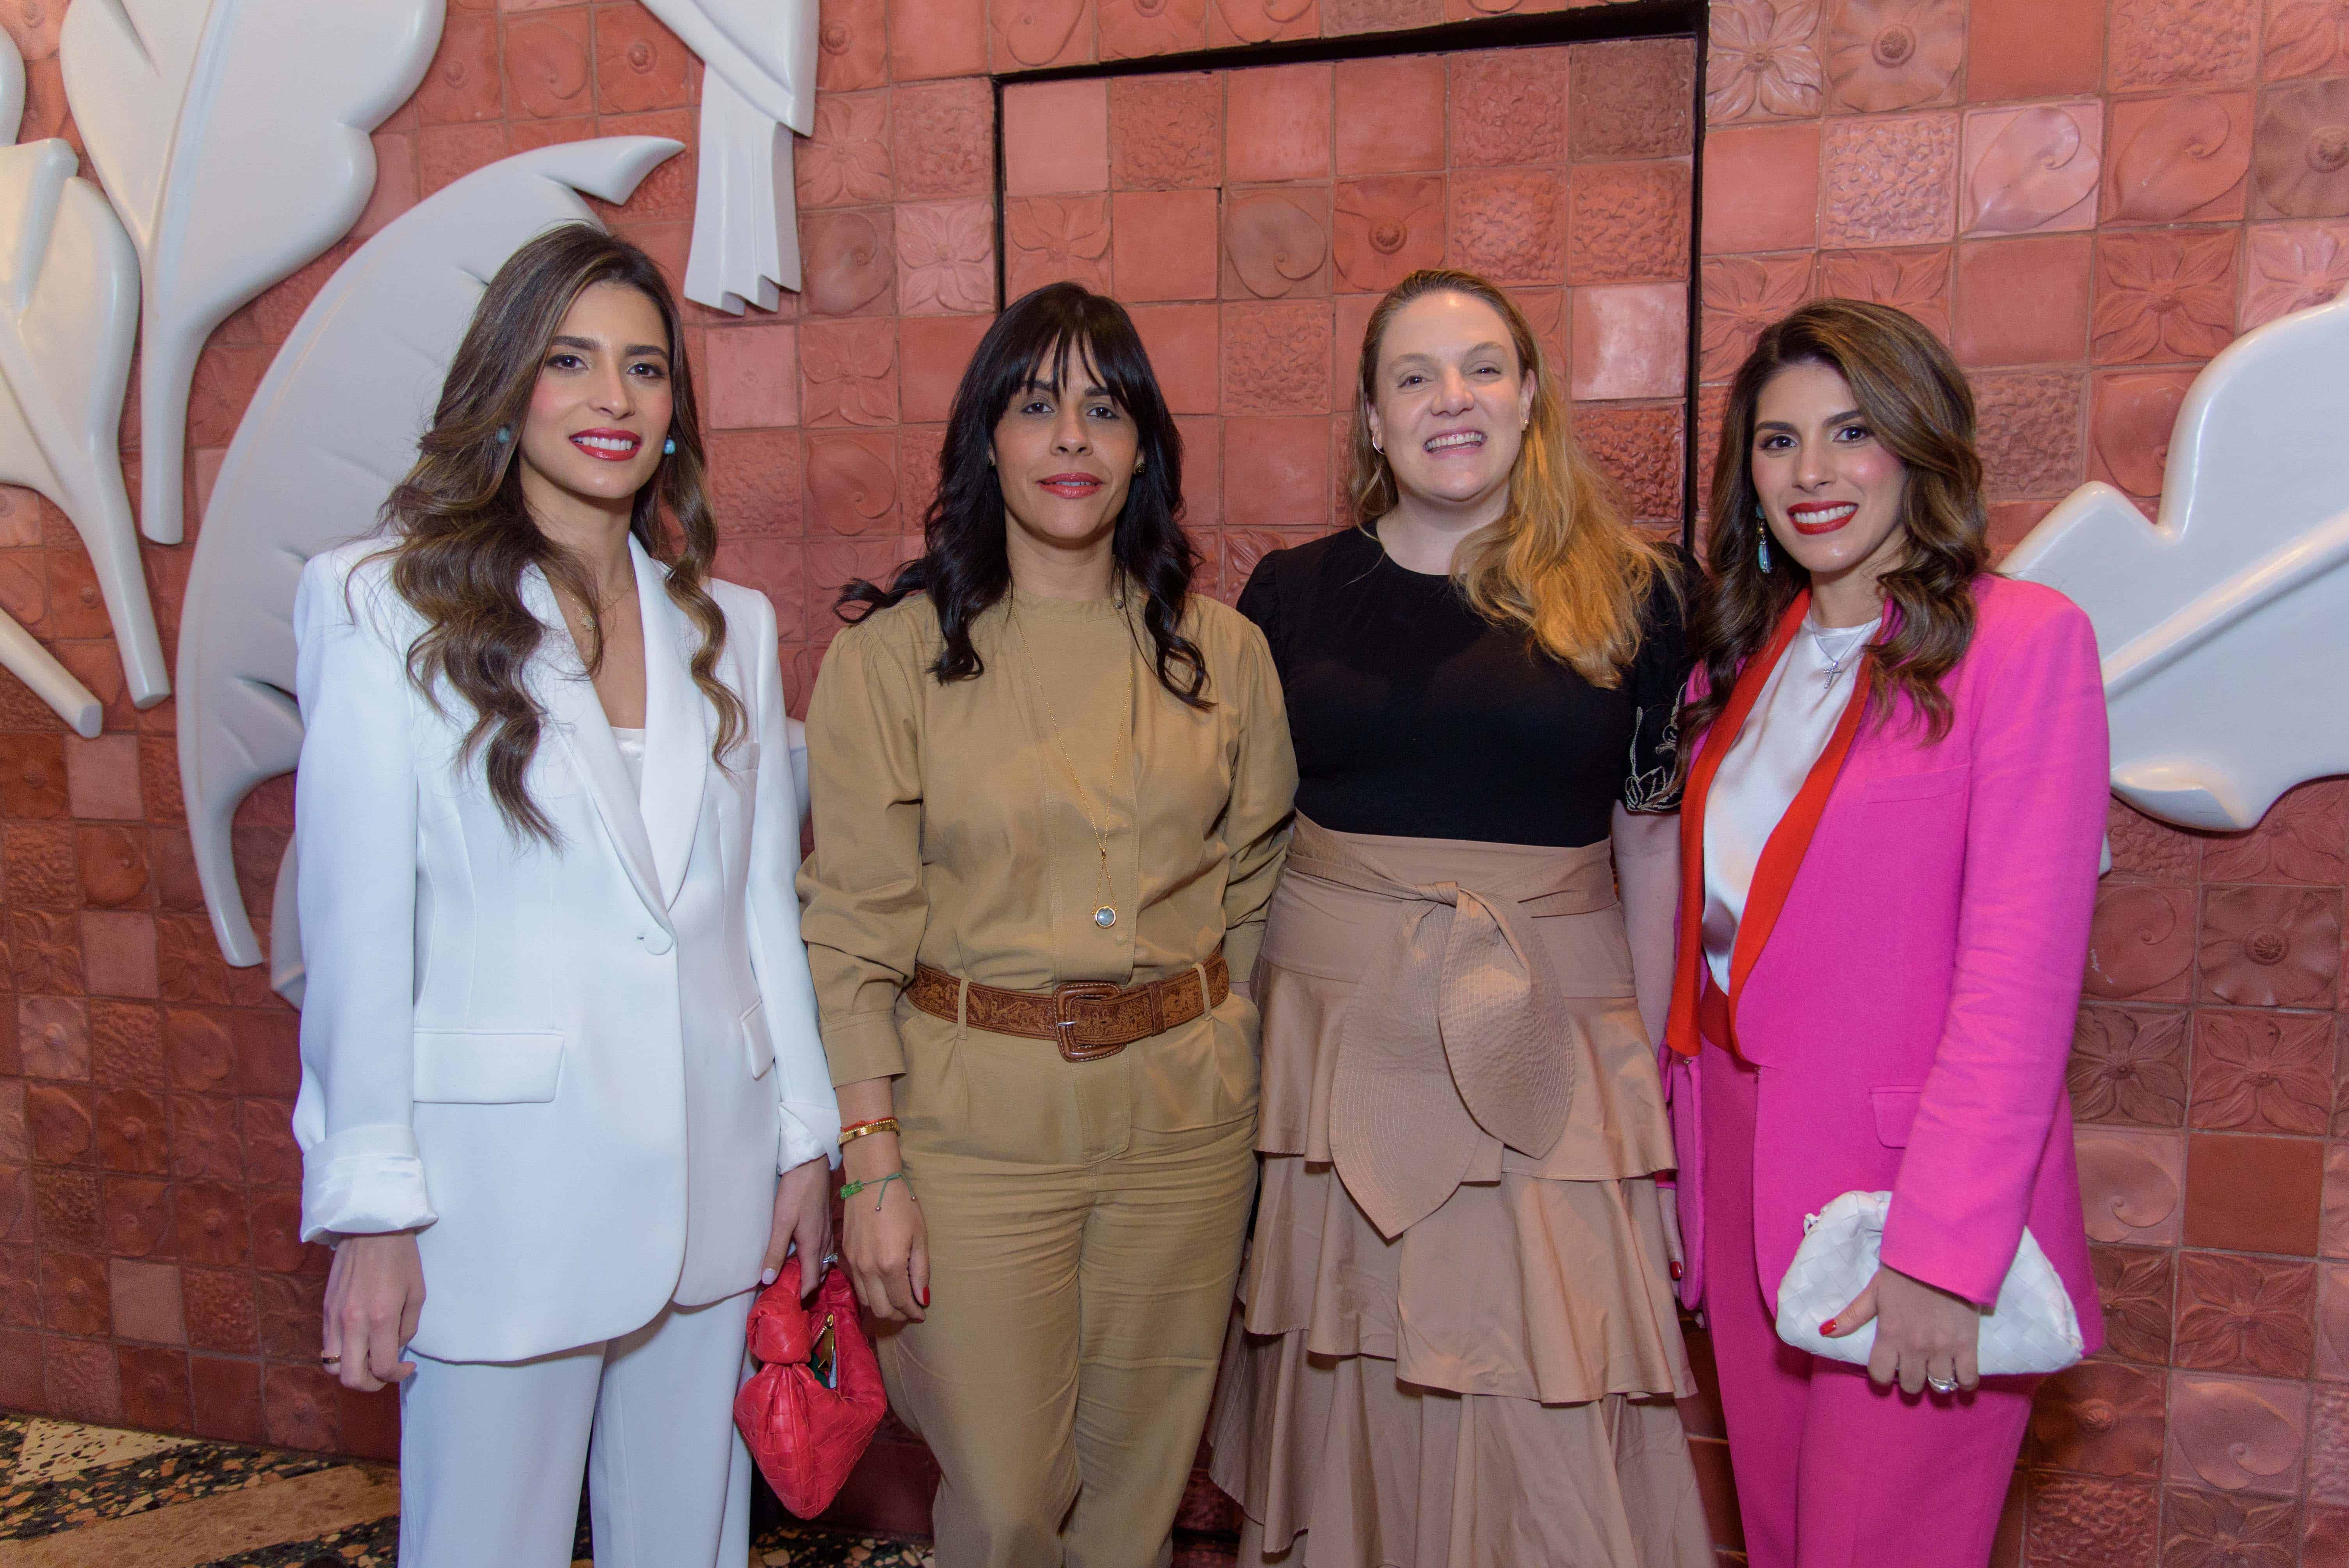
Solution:
M 1912 310 L 2001 547 L 2084 479 L 2152 512 L 2201 364 L 2349 282 L 2337 5 L 1710 14 L 1701 406 L 1811 293 Z M 2072 1061 L 2109 1350 L 2041 1397 L 2001 1561 L 2349 1563 L 2349 786 L 2248 838 L 2114 805 L 2112 847 Z

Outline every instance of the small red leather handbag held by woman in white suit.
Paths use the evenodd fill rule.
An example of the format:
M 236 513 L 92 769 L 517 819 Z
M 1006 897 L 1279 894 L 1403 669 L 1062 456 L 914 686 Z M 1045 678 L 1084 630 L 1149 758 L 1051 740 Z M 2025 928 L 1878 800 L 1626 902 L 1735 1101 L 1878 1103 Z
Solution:
M 735 1392 L 735 1427 L 782 1507 L 815 1519 L 888 1413 L 848 1275 L 824 1270 L 815 1298 L 801 1303 L 799 1270 L 785 1268 L 749 1310 L 749 1352 L 759 1371 Z

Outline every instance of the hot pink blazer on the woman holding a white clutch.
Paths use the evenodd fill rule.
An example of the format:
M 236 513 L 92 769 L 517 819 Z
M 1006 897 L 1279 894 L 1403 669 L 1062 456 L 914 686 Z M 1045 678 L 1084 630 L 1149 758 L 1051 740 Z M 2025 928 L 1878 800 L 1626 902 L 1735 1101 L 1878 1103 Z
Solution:
M 1891 1190 L 1884 1263 L 1987 1305 L 2030 1225 L 2095 1350 L 2065 1061 L 2105 833 L 2105 688 L 2088 617 L 2062 594 L 1983 577 L 1976 603 L 1973 646 L 1943 681 L 1950 732 L 1929 739 L 1905 702 L 1858 725 L 1736 988 L 1736 1047 L 1759 1070 L 1755 1258 L 1776 1300 L 1806 1214 Z M 1701 854 L 1703 800 L 1691 791 L 1682 810 Z M 1748 920 L 1766 901 L 1757 878 Z M 1689 960 L 1658 1056 L 1694 1307 L 1705 1181 Z

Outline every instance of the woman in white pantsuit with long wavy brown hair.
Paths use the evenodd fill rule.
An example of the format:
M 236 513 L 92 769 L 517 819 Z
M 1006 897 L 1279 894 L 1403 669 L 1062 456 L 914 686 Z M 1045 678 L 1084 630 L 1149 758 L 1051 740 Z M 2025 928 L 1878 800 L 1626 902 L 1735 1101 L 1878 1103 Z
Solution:
M 322 1361 L 402 1383 L 404 1568 L 568 1563 L 590 1462 L 604 1568 L 738 1568 L 745 1319 L 829 1246 L 775 615 L 707 577 L 681 343 L 634 246 L 526 244 L 294 606 L 303 1235 Z

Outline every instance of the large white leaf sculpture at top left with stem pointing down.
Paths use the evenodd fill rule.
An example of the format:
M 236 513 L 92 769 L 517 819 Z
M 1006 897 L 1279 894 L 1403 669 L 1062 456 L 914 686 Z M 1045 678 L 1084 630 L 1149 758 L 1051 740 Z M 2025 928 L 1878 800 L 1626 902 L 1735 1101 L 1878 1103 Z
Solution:
M 341 239 L 371 129 L 439 47 L 444 0 L 75 0 L 66 101 L 139 246 L 141 507 L 181 540 L 188 383 L 211 329 Z

